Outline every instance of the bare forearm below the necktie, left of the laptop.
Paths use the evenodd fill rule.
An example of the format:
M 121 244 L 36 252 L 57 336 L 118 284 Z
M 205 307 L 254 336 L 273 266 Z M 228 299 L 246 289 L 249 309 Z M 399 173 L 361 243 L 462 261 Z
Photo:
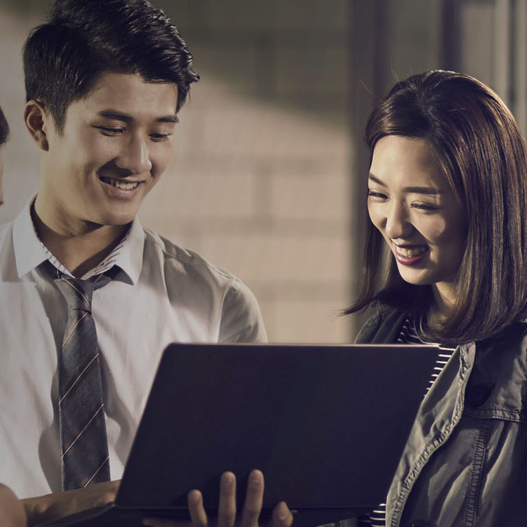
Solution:
M 31 527 L 84 511 L 86 508 L 113 502 L 117 489 L 119 489 L 119 481 L 106 481 L 89 485 L 85 489 L 28 497 L 21 500 L 27 515 L 27 525 Z

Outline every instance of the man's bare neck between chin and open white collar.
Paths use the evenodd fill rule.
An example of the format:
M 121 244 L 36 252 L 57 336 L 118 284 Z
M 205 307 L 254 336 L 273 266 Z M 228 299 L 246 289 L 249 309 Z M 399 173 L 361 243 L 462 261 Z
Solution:
M 86 224 L 82 231 L 59 232 L 39 218 L 34 206 L 31 217 L 40 241 L 74 277 L 82 277 L 98 266 L 117 247 L 130 226 Z

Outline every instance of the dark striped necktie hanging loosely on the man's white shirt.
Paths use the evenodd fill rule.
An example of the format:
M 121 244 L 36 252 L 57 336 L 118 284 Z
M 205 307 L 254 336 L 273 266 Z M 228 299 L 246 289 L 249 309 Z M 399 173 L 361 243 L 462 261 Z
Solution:
M 68 304 L 68 321 L 58 368 L 62 490 L 110 479 L 108 440 L 102 399 L 101 366 L 91 314 L 97 281 L 60 276 L 56 284 Z

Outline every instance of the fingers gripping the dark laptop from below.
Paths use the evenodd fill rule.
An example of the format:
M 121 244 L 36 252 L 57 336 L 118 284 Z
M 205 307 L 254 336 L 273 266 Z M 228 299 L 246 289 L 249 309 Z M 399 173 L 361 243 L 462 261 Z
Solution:
M 258 518 L 264 498 L 264 475 L 259 470 L 253 470 L 249 475 L 247 492 L 239 517 L 237 527 L 258 527 Z M 218 517 L 209 519 L 203 508 L 200 491 L 190 491 L 188 495 L 189 513 L 193 527 L 234 527 L 236 520 L 236 478 L 232 472 L 224 472 L 220 480 L 220 504 Z M 293 516 L 284 502 L 280 502 L 272 510 L 272 527 L 290 527 Z M 172 520 L 145 518 L 143 524 L 152 527 L 180 527 L 183 524 Z

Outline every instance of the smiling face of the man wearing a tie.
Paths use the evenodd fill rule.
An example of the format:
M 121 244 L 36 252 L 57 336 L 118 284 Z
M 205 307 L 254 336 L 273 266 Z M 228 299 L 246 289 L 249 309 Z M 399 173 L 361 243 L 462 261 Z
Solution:
M 49 226 L 130 223 L 173 150 L 177 86 L 103 73 L 73 102 L 61 134 L 47 117 L 36 211 Z

